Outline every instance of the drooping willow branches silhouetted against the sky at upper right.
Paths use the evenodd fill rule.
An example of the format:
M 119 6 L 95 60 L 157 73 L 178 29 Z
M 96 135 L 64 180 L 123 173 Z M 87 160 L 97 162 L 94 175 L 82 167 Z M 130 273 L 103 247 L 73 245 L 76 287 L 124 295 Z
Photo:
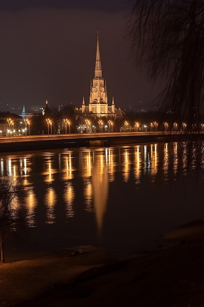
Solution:
M 136 0 L 128 22 L 137 65 L 165 78 L 159 95 L 165 112 L 201 131 L 204 121 L 204 1 Z

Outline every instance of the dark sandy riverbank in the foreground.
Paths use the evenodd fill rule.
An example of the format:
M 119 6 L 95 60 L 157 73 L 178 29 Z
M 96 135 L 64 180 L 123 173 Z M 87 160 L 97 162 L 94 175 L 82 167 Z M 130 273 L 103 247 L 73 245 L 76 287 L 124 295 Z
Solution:
M 0 306 L 204 307 L 204 220 L 114 259 L 92 247 L 0 264 Z

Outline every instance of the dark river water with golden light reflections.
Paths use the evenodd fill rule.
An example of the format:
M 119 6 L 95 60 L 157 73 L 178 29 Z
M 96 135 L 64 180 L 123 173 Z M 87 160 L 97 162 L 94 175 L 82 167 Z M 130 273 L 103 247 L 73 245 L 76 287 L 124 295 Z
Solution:
M 15 247 L 6 243 L 7 256 L 83 245 L 135 253 L 203 217 L 203 179 L 184 170 L 177 178 L 177 148 L 158 143 L 1 154 L 1 175 L 23 179 L 30 225 Z

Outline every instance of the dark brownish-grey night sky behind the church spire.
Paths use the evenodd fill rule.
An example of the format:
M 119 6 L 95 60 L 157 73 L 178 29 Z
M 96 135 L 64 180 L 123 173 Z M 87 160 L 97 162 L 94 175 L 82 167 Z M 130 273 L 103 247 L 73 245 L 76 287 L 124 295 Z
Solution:
M 109 104 L 154 107 L 158 86 L 134 66 L 124 39 L 130 8 L 123 0 L 0 0 L 0 111 L 45 100 L 81 106 L 83 96 L 88 104 L 97 30 Z

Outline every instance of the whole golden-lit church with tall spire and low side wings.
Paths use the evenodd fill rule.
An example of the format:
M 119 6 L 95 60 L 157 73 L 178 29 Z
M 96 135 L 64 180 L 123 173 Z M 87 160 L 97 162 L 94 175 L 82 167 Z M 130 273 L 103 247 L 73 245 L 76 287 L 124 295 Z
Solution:
M 114 104 L 114 98 L 112 98 L 112 104 L 108 105 L 108 96 L 106 88 L 106 79 L 102 77 L 102 67 L 99 51 L 99 35 L 97 32 L 97 44 L 96 44 L 96 60 L 95 60 L 95 76 L 91 79 L 90 85 L 90 99 L 89 105 L 85 104 L 83 97 L 82 106 L 80 109 L 75 108 L 76 113 L 81 114 L 94 114 L 98 117 L 101 116 L 113 116 L 123 117 L 125 112 L 120 108 L 116 108 Z

